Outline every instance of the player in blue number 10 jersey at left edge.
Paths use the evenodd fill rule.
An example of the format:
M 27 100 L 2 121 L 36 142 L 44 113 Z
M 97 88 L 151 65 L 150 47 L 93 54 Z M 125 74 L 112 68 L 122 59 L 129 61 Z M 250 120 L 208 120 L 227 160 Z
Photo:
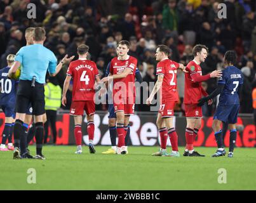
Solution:
M 13 143 L 11 136 L 13 134 L 13 122 L 15 121 L 15 103 L 16 103 L 16 90 L 17 81 L 8 78 L 8 71 L 13 65 L 15 55 L 8 55 L 7 67 L 0 70 L 0 107 L 2 108 L 5 115 L 5 124 L 2 134 L 2 142 L 0 151 L 13 150 Z M 8 148 L 6 148 L 6 140 L 8 139 Z

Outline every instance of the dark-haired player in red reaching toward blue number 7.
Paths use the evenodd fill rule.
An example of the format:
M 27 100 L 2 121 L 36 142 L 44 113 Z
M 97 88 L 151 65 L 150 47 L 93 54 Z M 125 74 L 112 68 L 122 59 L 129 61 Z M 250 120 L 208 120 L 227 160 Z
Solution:
M 199 129 L 201 128 L 202 108 L 198 107 L 198 100 L 202 95 L 207 96 L 208 93 L 201 87 L 201 82 L 207 81 L 211 77 L 221 77 L 220 70 L 214 70 L 210 74 L 202 75 L 200 67 L 201 62 L 205 62 L 208 55 L 208 48 L 205 45 L 198 44 L 193 48 L 194 60 L 187 64 L 187 73 L 185 74 L 185 117 L 187 119 L 187 127 L 185 129 L 185 147 L 184 156 L 204 157 L 194 151 L 193 142 L 196 138 Z M 212 100 L 208 101 L 208 105 L 212 104 Z

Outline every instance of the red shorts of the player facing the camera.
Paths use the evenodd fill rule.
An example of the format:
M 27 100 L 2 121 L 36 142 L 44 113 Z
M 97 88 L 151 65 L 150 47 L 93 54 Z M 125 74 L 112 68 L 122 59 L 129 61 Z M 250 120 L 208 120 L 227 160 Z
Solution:
M 120 98 L 118 101 L 113 101 L 114 112 L 125 112 L 125 115 L 133 115 L 135 107 L 135 98 Z

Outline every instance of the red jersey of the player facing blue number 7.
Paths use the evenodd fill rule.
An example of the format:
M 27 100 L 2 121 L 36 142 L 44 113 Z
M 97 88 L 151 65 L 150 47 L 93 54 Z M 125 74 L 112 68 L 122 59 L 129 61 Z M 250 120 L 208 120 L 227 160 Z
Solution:
M 192 81 L 191 75 L 202 75 L 201 67 L 194 60 L 192 60 L 187 64 L 186 70 L 188 72 L 185 73 L 184 103 L 198 103 L 198 100 L 202 97 L 201 82 Z

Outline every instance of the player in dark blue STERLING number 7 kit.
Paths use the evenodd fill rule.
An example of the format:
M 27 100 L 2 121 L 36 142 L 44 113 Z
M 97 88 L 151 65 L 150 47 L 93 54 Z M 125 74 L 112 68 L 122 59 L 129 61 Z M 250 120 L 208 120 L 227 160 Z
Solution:
M 228 157 L 233 157 L 234 144 L 236 143 L 236 122 L 239 112 L 239 93 L 241 93 L 243 85 L 243 74 L 241 70 L 234 66 L 236 63 L 236 52 L 227 51 L 224 55 L 225 69 L 222 71 L 222 77 L 219 79 L 217 89 L 209 96 L 201 98 L 198 105 L 203 105 L 206 101 L 220 94 L 219 105 L 213 116 L 213 131 L 218 145 L 217 152 L 212 157 L 220 157 L 226 155 L 224 150 L 222 122 L 229 124 L 229 154 Z

